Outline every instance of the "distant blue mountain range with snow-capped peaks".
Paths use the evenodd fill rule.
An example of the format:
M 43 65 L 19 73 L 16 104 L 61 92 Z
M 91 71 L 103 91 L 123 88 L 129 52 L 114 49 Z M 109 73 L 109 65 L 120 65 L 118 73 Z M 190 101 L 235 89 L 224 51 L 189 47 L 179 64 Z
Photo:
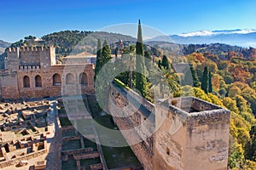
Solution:
M 256 48 L 256 30 L 195 31 L 179 35 L 158 36 L 146 41 L 166 41 L 178 44 L 226 43 Z

